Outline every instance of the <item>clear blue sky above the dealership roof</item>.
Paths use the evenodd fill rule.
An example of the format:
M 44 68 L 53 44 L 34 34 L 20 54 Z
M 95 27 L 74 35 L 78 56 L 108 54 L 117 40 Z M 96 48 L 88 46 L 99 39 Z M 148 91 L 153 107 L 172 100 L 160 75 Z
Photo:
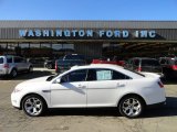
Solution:
M 0 0 L 0 20 L 177 20 L 177 0 Z

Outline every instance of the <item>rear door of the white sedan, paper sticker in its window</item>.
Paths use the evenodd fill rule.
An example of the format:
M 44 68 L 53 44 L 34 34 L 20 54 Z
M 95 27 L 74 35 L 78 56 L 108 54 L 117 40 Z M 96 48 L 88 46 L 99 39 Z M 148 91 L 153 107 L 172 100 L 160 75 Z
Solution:
M 112 69 L 90 69 L 87 75 L 87 107 L 115 107 L 127 76 Z

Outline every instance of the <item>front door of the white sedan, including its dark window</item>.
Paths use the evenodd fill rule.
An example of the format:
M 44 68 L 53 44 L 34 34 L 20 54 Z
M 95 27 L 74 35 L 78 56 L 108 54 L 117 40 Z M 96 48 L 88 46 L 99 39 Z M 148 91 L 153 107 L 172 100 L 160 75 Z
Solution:
M 73 70 L 51 86 L 51 106 L 54 108 L 86 107 L 86 69 Z

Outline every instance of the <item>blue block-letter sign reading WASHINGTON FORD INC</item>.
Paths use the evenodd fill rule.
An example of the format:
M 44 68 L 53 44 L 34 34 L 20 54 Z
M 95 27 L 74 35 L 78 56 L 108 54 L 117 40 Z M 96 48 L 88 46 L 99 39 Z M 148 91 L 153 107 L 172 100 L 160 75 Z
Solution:
M 19 30 L 20 37 L 155 38 L 154 30 Z

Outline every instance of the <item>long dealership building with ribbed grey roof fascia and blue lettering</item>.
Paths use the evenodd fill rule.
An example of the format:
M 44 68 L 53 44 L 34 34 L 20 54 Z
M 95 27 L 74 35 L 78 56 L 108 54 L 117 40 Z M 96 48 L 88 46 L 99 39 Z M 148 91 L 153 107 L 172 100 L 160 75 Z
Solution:
M 0 54 L 31 57 L 177 55 L 177 21 L 0 21 Z

